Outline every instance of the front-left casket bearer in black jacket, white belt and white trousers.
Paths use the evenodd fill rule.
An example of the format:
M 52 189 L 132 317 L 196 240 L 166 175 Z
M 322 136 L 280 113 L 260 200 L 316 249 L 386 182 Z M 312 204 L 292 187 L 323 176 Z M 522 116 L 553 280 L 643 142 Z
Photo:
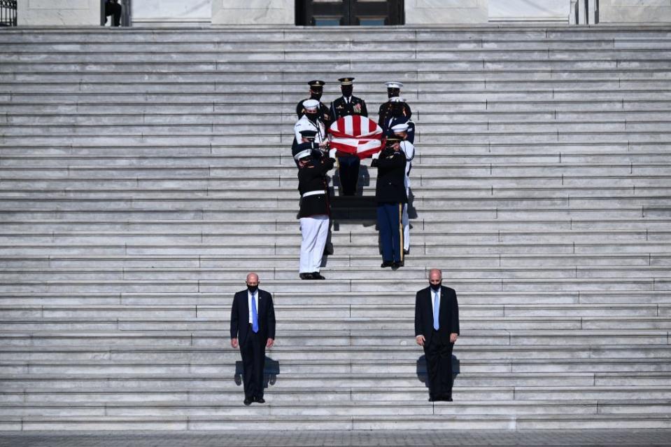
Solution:
M 302 280 L 323 280 L 319 270 L 330 219 L 330 204 L 326 173 L 333 169 L 335 149 L 328 156 L 316 159 L 311 149 L 296 154 L 298 161 L 298 191 L 301 194 L 301 256 L 299 277 Z

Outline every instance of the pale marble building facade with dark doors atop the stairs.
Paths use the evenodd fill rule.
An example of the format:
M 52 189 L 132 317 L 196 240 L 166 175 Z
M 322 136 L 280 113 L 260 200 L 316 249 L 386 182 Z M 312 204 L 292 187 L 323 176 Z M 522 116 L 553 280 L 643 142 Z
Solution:
M 119 0 L 126 26 L 484 25 L 671 22 L 668 0 Z M 104 0 L 19 0 L 19 26 L 104 23 Z M 108 20 L 108 25 L 110 21 Z

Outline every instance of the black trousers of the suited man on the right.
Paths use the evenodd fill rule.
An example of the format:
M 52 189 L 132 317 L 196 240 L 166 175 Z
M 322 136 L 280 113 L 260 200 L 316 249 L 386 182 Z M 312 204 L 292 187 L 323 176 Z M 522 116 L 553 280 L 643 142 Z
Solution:
M 429 397 L 452 397 L 452 348 L 454 343 L 443 343 L 438 331 L 431 334 L 431 342 L 424 346 L 426 372 L 429 379 Z

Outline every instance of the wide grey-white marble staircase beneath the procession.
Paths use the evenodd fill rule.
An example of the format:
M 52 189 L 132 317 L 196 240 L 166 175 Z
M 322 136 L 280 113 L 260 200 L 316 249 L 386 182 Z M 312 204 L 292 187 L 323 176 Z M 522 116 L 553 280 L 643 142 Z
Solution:
M 371 111 L 406 83 L 411 255 L 352 212 L 302 282 L 293 111 L 345 75 Z M 670 111 L 669 27 L 0 30 L 0 428 L 671 427 Z M 433 267 L 453 403 L 414 344 Z M 250 270 L 278 338 L 246 407 Z

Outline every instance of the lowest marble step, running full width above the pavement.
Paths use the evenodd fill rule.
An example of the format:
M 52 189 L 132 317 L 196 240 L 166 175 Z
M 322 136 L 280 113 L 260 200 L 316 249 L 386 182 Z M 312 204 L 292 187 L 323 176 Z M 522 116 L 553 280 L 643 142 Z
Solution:
M 248 416 L 30 416 L 3 418 L 3 430 L 408 430 L 408 429 L 667 429 L 671 416 L 661 415 L 501 415 L 431 416 L 271 416 L 263 425 Z

